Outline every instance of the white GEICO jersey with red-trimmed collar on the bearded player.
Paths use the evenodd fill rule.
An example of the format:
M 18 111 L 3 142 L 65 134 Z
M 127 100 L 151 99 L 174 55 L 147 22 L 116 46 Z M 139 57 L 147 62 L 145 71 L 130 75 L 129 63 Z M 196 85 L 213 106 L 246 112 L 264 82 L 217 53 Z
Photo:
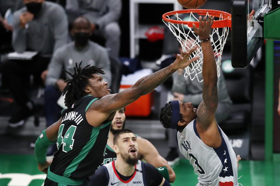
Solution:
M 116 169 L 115 169 L 115 164 L 114 161 L 108 164 L 103 165 L 104 167 L 107 168 L 107 177 L 109 178 L 108 185 L 114 185 L 114 186 L 122 186 L 122 185 L 127 185 L 127 186 L 140 186 L 140 185 L 146 185 L 145 184 L 145 179 L 144 179 L 144 163 L 138 160 L 138 162 L 135 165 L 135 171 L 132 177 L 125 181 L 120 178 L 118 175 Z

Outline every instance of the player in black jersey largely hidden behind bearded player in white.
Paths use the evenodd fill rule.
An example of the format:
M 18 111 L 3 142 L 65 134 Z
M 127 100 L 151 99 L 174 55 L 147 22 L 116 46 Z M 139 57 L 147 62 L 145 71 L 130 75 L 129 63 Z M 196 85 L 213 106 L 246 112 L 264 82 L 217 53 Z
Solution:
M 122 130 L 125 126 L 125 108 L 118 110 L 112 121 L 108 141 L 106 144 L 106 151 L 104 156 L 103 164 L 110 163 L 117 159 L 117 155 L 113 150 L 113 138 L 114 135 Z M 148 140 L 137 136 L 138 143 L 138 156 L 139 160 L 145 160 L 147 163 L 157 167 L 162 176 L 167 179 L 170 183 L 173 183 L 176 174 L 173 169 L 169 166 L 167 161 L 158 153 L 157 149 Z

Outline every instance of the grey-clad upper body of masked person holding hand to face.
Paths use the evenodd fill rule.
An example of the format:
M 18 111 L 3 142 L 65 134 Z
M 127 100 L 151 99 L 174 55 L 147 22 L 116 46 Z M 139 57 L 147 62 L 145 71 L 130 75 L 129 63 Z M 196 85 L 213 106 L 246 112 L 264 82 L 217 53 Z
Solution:
M 14 14 L 13 47 L 51 57 L 53 51 L 68 42 L 67 15 L 62 6 L 44 0 L 23 0 L 26 7 Z M 38 3 L 39 2 L 39 3 Z

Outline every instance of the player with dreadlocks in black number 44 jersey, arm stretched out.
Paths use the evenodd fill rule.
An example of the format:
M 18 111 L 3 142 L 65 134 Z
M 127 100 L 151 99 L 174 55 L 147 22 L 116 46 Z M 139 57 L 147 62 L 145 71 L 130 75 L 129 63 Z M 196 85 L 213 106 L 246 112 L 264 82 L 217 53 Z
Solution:
M 100 68 L 81 63 L 67 80 L 63 94 L 67 109 L 62 117 L 49 126 L 35 143 L 38 169 L 47 173 L 45 185 L 88 185 L 86 180 L 103 162 L 108 133 L 115 112 L 148 94 L 179 68 L 185 68 L 198 57 L 189 60 L 196 47 L 181 55 L 168 67 L 138 80 L 118 94 L 110 94 Z M 57 144 L 53 161 L 46 160 L 50 144 Z M 129 152 L 130 153 L 130 152 Z

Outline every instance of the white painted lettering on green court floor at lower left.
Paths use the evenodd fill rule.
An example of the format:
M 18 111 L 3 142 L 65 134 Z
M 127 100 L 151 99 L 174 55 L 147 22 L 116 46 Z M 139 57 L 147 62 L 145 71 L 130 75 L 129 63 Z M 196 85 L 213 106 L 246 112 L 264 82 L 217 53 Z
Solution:
M 8 183 L 10 186 L 28 186 L 32 180 L 45 180 L 46 176 L 46 174 L 0 173 L 0 180 L 5 178 L 11 179 Z

